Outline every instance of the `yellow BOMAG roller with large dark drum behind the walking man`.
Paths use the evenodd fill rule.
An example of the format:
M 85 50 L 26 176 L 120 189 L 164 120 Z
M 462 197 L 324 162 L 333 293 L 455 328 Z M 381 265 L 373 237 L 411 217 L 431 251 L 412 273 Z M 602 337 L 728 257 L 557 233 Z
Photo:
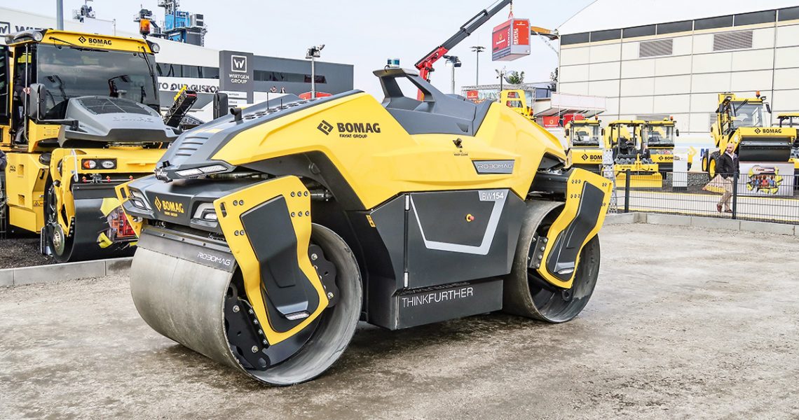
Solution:
M 760 92 L 755 97 L 737 97 L 734 93 L 720 93 L 716 122 L 710 128 L 716 150 L 706 151 L 702 157 L 702 170 L 712 179 L 721 151 L 729 143 L 741 161 L 757 163 L 789 163 L 797 129 L 772 127 L 766 119 L 771 107 Z M 794 163 L 795 164 L 795 163 Z

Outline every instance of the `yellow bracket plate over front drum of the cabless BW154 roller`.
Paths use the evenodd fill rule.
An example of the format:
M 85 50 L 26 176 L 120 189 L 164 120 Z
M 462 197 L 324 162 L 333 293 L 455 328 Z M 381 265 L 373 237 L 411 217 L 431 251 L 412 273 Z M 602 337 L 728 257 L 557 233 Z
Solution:
M 248 223 L 244 219 L 248 215 L 252 216 L 252 212 L 264 209 L 269 204 L 275 204 L 274 207 L 278 209 L 277 213 L 270 213 L 273 217 L 259 217 L 255 224 L 248 224 L 247 228 L 244 228 L 244 224 Z M 284 176 L 260 182 L 215 200 L 213 208 L 217 212 L 217 220 L 219 220 L 222 232 L 225 233 L 225 240 L 239 264 L 244 279 L 244 291 L 252 303 L 256 319 L 264 330 L 268 343 L 270 345 L 280 343 L 312 323 L 328 306 L 328 296 L 324 291 L 320 276 L 308 258 L 308 245 L 311 240 L 311 196 L 300 178 Z M 301 271 L 301 275 L 293 276 L 295 283 L 291 287 L 304 287 L 302 282 L 309 282 L 312 285 L 312 290 L 316 291 L 318 300 L 308 296 L 307 317 L 288 331 L 279 331 L 280 329 L 276 328 L 276 322 L 280 321 L 277 318 L 282 317 L 272 316 L 273 319 L 270 319 L 265 300 L 270 300 L 272 306 L 276 306 L 279 304 L 276 301 L 280 300 L 280 296 L 276 294 L 288 287 L 273 289 L 265 282 L 262 274 L 269 272 L 270 268 L 261 267 L 255 248 L 260 244 L 270 242 L 274 244 L 285 239 L 285 233 L 279 233 L 280 229 L 277 227 L 281 221 L 286 220 L 290 220 L 290 229 L 296 235 L 295 257 Z M 259 225 L 264 230 L 255 236 Z M 281 236 L 283 237 L 281 238 Z M 288 232 L 288 236 L 290 236 L 290 232 Z M 281 257 L 288 256 L 281 255 Z M 276 272 L 276 278 L 278 276 L 280 276 L 280 279 L 276 280 L 278 284 L 281 280 L 285 281 L 287 276 L 292 277 L 291 273 L 283 270 Z M 261 292 L 262 289 L 264 294 Z M 312 300 L 316 300 L 316 307 L 312 307 Z

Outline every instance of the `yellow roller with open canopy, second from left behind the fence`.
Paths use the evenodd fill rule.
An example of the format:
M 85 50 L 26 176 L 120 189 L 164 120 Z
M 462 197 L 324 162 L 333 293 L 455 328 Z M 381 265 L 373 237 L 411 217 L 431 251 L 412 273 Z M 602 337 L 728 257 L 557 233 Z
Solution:
M 662 188 L 663 176 L 651 156 L 647 141 L 642 136 L 646 121 L 611 121 L 605 129 L 605 149 L 613 150 L 614 173 L 618 185 L 627 185 L 630 173 L 630 188 Z

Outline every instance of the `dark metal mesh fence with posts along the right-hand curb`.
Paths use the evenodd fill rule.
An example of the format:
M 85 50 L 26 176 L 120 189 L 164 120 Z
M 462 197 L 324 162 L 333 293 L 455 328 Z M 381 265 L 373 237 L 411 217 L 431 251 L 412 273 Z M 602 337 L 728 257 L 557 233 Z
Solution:
M 657 174 L 617 172 L 617 212 L 658 212 L 799 224 L 799 187 L 789 176 L 735 173 L 710 183 L 706 173 Z M 714 188 L 715 187 L 715 188 Z M 729 201 L 721 202 L 729 191 Z M 729 205 L 729 211 L 726 208 Z M 613 207 L 613 206 L 611 206 Z

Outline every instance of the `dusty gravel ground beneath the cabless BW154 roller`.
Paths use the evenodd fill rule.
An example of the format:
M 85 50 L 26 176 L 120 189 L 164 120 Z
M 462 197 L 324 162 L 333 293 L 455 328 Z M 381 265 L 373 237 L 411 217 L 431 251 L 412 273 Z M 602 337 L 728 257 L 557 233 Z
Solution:
M 151 331 L 124 276 L 0 289 L 0 418 L 799 418 L 797 253 L 794 236 L 609 226 L 574 321 L 363 326 L 286 388 Z

